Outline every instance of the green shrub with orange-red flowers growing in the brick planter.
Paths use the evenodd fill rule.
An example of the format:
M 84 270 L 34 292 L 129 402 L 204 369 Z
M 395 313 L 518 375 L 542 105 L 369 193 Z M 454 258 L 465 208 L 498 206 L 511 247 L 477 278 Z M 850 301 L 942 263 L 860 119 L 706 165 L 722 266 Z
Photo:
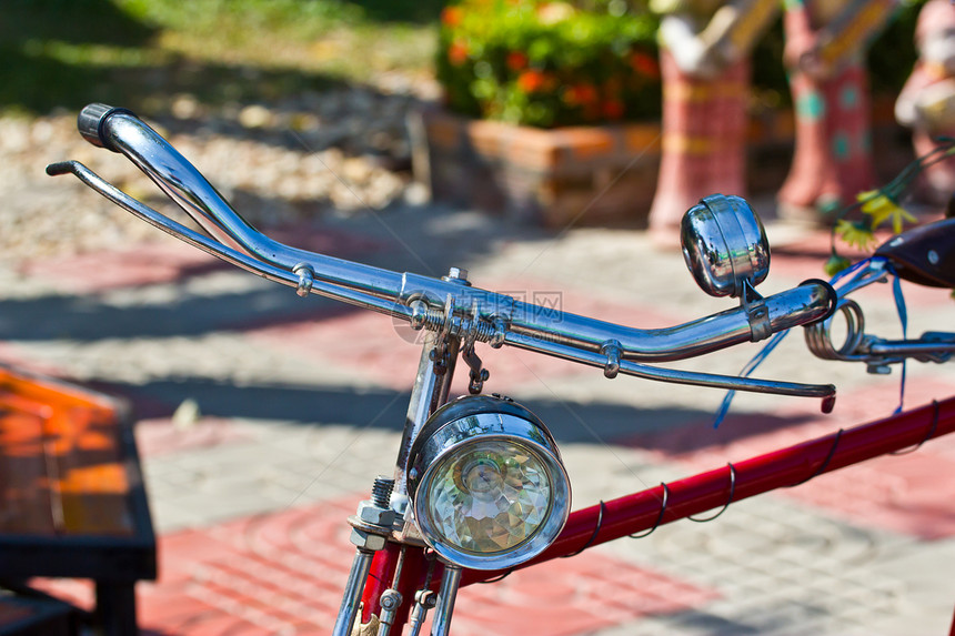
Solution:
M 462 0 L 444 9 L 438 78 L 471 117 L 552 128 L 660 115 L 657 21 L 622 0 Z

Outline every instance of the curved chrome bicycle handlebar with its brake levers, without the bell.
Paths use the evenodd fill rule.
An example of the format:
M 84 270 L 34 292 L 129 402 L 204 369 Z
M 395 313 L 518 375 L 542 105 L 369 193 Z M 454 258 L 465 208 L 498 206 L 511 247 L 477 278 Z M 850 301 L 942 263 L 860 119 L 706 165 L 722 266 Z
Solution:
M 443 331 L 470 342 L 504 344 L 649 380 L 758 393 L 826 398 L 832 385 L 797 384 L 659 369 L 826 317 L 831 287 L 810 282 L 743 306 L 682 325 L 639 330 L 520 302 L 471 286 L 461 277 L 433 279 L 354 263 L 284 245 L 258 232 L 172 145 L 124 109 L 91 104 L 80 132 L 94 145 L 127 155 L 211 236 L 207 238 L 137 201 L 76 161 L 47 168 L 83 183 L 157 228 L 265 279 L 406 320 L 415 329 Z

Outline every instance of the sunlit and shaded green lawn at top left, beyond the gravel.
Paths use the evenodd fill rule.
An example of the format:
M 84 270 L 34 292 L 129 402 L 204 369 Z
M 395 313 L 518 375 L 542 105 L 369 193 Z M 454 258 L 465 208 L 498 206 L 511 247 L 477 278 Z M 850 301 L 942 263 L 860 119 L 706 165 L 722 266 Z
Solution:
M 274 101 L 431 74 L 444 0 L 3 0 L 0 110 Z

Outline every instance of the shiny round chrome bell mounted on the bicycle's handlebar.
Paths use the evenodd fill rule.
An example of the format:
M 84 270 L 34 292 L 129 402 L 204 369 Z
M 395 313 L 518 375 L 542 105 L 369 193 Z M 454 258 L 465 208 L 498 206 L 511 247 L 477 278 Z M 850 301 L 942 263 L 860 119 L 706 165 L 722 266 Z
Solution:
M 740 196 L 712 194 L 686 211 L 683 258 L 711 296 L 743 297 L 770 273 L 770 243 L 760 218 Z

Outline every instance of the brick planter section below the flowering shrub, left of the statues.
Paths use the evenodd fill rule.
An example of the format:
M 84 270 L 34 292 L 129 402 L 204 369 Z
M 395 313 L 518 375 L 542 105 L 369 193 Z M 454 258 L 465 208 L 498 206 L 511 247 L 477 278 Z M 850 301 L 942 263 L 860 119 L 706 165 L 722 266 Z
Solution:
M 645 223 L 657 123 L 542 130 L 440 110 L 413 117 L 415 176 L 435 201 L 550 228 Z

